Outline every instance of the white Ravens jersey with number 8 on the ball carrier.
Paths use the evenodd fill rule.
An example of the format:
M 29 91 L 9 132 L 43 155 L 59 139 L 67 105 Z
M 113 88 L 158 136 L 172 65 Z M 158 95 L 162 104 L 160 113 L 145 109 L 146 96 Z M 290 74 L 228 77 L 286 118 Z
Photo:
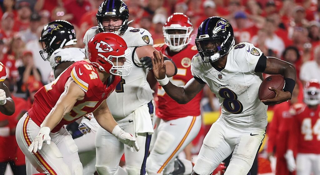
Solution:
M 258 97 L 263 81 L 262 73 L 255 67 L 263 53 L 251 43 L 233 46 L 223 70 L 216 70 L 211 63 L 204 63 L 196 54 L 191 63 L 194 77 L 200 78 L 219 99 L 220 119 L 242 129 L 267 126 L 267 108 Z

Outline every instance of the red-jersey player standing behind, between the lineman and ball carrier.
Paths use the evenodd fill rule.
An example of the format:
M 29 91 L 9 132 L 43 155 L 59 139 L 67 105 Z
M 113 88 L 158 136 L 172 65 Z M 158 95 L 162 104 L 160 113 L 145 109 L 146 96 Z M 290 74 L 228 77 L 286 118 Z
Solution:
M 163 27 L 165 44 L 154 45 L 156 50 L 172 58 L 176 63 L 177 74 L 170 79 L 180 86 L 184 86 L 193 78 L 190 70 L 192 59 L 190 56 L 197 53 L 197 48 L 190 44 L 192 31 L 193 26 L 189 17 L 183 13 L 174 13 Z M 200 91 L 187 104 L 178 104 L 159 85 L 158 118 L 154 124 L 155 136 L 152 137 L 155 143 L 147 159 L 148 174 L 170 174 L 174 171 L 175 157 L 196 137 L 200 130 L 202 93 L 203 91 Z M 192 163 L 186 160 L 182 162 L 185 170 L 189 170 L 191 174 Z

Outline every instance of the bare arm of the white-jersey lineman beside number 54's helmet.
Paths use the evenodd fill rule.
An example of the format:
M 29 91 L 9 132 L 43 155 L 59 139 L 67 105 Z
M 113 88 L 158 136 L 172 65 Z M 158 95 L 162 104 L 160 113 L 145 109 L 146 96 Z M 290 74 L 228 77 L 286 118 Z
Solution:
M 147 46 L 138 47 L 136 49 L 136 52 L 139 55 L 139 58 L 141 58 L 140 61 L 144 63 L 144 66 L 146 68 L 152 69 L 150 58 L 152 57 L 154 52 L 158 52 L 158 51 L 153 46 L 147 45 Z M 168 59 L 168 60 L 164 60 L 164 62 L 166 64 L 165 74 L 168 77 L 172 77 L 173 75 L 177 74 L 177 67 L 172 60 Z

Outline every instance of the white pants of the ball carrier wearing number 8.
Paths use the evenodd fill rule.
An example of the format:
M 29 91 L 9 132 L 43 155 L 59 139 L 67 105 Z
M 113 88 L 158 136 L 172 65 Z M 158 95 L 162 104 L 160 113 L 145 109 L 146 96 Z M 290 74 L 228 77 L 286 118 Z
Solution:
M 247 175 L 265 133 L 266 128 L 238 129 L 219 118 L 205 136 L 193 170 L 210 175 L 233 151 L 225 175 Z

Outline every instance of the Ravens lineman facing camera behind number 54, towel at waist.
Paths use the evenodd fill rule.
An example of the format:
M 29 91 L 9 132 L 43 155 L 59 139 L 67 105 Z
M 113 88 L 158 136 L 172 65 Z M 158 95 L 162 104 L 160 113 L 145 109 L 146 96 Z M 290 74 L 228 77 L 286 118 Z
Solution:
M 100 175 L 108 174 L 145 174 L 146 160 L 151 140 L 152 116 L 154 107 L 152 90 L 147 82 L 148 66 L 141 61 L 144 57 L 151 57 L 155 50 L 151 34 L 141 28 L 128 27 L 129 11 L 122 0 L 105 0 L 97 12 L 98 26 L 92 27 L 84 35 L 84 44 L 87 51 L 88 41 L 99 32 L 114 32 L 120 35 L 131 50 L 126 57 L 132 60 L 129 76 L 122 77 L 116 90 L 108 97 L 108 107 L 126 132 L 136 136 L 140 147 L 139 152 L 131 152 L 129 147 L 106 130 L 98 127 L 96 135 L 96 169 Z M 128 62 L 128 61 L 127 61 Z M 126 62 L 126 63 L 127 63 Z M 167 75 L 176 74 L 176 67 L 171 60 L 167 64 Z M 126 64 L 125 63 L 125 64 Z M 152 73 L 152 71 L 150 72 Z M 119 167 L 121 156 L 125 154 L 126 170 Z

